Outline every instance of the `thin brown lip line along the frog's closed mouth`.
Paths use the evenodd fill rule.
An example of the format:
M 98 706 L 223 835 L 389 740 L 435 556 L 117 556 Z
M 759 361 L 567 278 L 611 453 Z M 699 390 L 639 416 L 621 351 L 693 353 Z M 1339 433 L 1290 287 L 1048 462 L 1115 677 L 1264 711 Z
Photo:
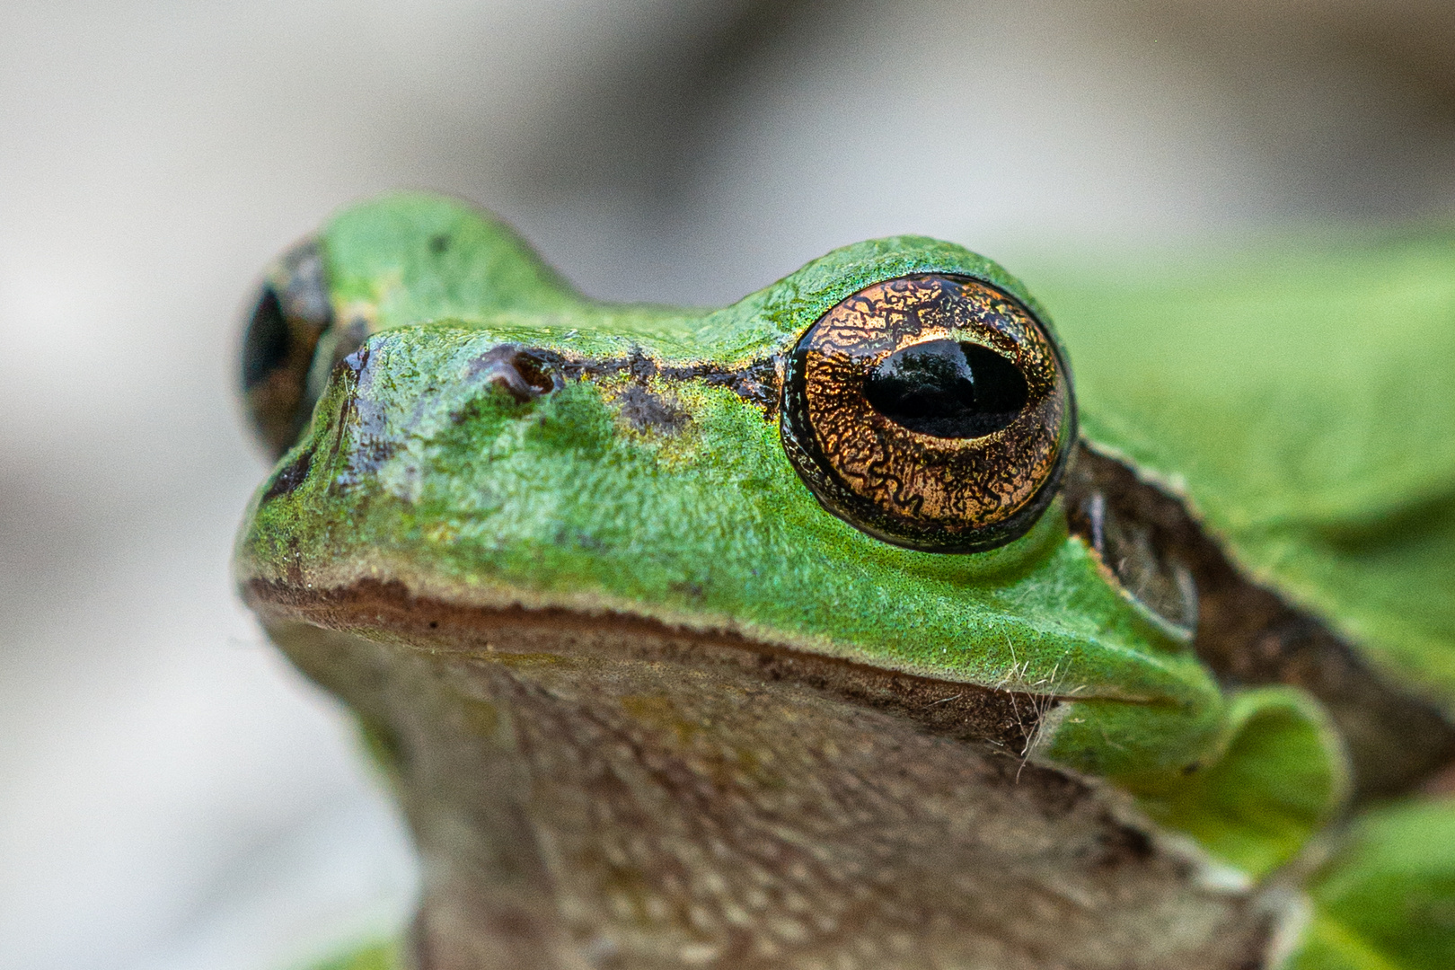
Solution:
M 333 589 L 300 589 L 247 580 L 243 598 L 265 625 L 304 622 L 364 636 L 383 634 L 428 653 L 501 656 L 512 633 L 547 638 L 553 654 L 615 657 L 714 666 L 730 663 L 773 681 L 802 684 L 841 700 L 908 717 L 960 740 L 989 742 L 1024 756 L 1053 698 L 938 681 L 767 644 L 735 633 L 672 627 L 624 614 L 579 614 L 562 608 L 464 606 L 413 596 L 397 582 L 362 579 Z M 537 653 L 531 650 L 530 653 Z

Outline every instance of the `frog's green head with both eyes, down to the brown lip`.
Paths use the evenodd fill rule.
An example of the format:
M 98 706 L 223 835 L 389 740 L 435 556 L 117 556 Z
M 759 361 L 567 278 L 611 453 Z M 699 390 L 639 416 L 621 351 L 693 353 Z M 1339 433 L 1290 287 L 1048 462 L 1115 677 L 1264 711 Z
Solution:
M 717 650 L 1011 747 L 1039 718 L 1059 763 L 1119 777 L 1224 743 L 1189 596 L 1132 595 L 1068 529 L 1046 313 L 959 246 L 611 305 L 477 211 L 393 196 L 278 265 L 243 380 L 279 461 L 236 572 L 285 646 Z

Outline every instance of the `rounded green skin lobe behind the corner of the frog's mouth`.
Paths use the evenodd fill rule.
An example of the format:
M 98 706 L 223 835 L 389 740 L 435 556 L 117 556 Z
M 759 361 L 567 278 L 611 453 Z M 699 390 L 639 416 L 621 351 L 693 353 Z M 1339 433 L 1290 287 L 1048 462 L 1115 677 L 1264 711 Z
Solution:
M 1248 878 L 1296 855 L 1349 793 L 1339 733 L 1293 688 L 1241 691 L 1200 716 L 1115 701 L 1064 708 L 1045 758 L 1110 778 Z

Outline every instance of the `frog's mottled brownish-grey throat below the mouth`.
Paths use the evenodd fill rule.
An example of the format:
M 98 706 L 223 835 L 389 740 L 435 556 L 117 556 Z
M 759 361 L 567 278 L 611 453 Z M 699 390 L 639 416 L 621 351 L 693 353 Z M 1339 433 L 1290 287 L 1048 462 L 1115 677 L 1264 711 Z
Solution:
M 422 966 L 1234 967 L 1264 945 L 1248 897 L 1199 889 L 1094 790 L 781 657 L 524 614 L 445 652 L 255 606 L 384 753 L 425 859 Z

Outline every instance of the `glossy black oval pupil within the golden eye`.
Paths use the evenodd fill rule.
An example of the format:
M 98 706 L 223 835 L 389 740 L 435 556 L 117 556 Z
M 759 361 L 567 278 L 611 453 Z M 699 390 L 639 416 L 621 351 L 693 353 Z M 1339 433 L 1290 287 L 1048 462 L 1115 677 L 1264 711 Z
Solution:
M 936 438 L 979 438 L 1005 428 L 1030 391 L 1014 364 L 979 343 L 928 340 L 890 353 L 864 397 L 880 414 Z

